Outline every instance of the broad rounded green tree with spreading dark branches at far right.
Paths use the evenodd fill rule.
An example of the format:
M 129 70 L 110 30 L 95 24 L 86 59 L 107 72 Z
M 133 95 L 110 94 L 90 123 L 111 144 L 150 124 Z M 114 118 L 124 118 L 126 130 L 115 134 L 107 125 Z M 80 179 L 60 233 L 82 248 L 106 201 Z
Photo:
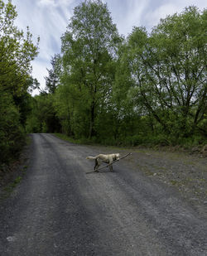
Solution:
M 122 56 L 132 80 L 128 94 L 176 139 L 196 129 L 206 134 L 200 126 L 207 107 L 206 22 L 206 10 L 188 7 L 161 20 L 151 35 L 134 27 Z

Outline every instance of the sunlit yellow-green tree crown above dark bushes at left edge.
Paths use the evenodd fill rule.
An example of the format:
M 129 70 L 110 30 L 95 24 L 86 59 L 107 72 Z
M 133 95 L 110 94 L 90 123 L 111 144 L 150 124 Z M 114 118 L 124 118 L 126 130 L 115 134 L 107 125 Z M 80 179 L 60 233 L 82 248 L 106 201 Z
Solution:
M 25 91 L 25 80 L 31 71 L 31 60 L 37 55 L 38 41 L 35 46 L 27 27 L 26 36 L 14 26 L 17 17 L 11 1 L 7 4 L 0 0 L 0 85 L 12 94 Z

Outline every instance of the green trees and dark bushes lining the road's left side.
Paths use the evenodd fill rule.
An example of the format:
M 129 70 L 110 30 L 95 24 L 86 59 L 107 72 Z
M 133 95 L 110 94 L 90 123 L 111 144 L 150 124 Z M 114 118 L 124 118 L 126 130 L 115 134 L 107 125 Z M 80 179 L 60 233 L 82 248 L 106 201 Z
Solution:
M 20 151 L 25 139 L 27 114 L 31 111 L 29 91 L 38 85 L 31 73 L 38 41 L 32 42 L 14 26 L 17 12 L 11 1 L 0 0 L 0 169 Z

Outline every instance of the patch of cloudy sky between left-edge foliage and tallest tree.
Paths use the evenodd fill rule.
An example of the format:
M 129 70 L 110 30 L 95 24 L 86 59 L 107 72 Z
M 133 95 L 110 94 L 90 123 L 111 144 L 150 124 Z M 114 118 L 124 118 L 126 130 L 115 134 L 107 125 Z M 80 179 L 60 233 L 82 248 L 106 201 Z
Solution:
M 65 32 L 71 17 L 70 4 L 74 1 L 65 0 L 13 0 L 17 6 L 16 25 L 23 31 L 29 26 L 33 41 L 40 36 L 39 55 L 32 61 L 32 75 L 45 86 L 44 76 L 48 75 L 51 57 L 60 52 L 60 36 Z

